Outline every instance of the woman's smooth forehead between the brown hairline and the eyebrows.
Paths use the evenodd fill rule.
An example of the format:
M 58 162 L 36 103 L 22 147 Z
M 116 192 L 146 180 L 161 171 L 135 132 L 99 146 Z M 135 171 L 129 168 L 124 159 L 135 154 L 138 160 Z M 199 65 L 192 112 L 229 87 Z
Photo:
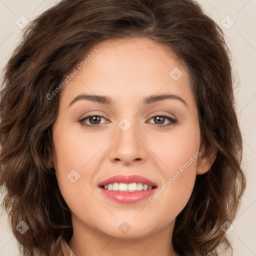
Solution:
M 97 53 L 91 54 L 95 50 Z M 78 66 L 80 69 L 75 67 L 77 73 L 61 91 L 65 104 L 80 93 L 109 95 L 114 102 L 129 103 L 134 97 L 157 93 L 193 100 L 185 66 L 170 50 L 148 38 L 95 44 Z M 178 77 L 173 76 L 175 73 Z

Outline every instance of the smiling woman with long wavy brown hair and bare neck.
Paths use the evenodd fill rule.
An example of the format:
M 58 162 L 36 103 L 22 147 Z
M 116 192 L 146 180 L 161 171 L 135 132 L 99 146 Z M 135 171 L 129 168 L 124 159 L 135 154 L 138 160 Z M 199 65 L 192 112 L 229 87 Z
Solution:
M 2 204 L 23 255 L 231 248 L 242 140 L 229 52 L 196 2 L 63 0 L 4 83 Z

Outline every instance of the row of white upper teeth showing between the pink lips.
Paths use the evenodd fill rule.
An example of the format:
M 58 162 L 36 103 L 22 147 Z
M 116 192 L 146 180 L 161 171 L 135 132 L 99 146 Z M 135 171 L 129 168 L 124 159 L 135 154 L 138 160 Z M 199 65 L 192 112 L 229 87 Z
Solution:
M 104 185 L 104 189 L 106 190 L 119 190 L 119 191 L 141 191 L 141 190 L 150 190 L 152 186 L 148 186 L 147 184 L 142 183 L 117 183 Z

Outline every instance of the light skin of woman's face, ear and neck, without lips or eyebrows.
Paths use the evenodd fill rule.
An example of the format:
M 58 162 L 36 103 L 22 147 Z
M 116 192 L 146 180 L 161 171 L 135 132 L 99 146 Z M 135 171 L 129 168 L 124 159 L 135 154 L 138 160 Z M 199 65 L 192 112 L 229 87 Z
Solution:
M 205 173 L 212 163 L 212 155 L 200 147 L 196 102 L 185 66 L 147 38 L 108 40 L 89 52 L 95 48 L 99 52 L 61 90 L 53 125 L 52 164 L 72 212 L 68 244 L 77 256 L 176 255 L 171 244 L 175 218 L 188 202 L 196 174 Z M 183 73 L 178 80 L 169 75 L 173 67 Z M 109 96 L 114 104 L 78 100 L 68 106 L 81 93 Z M 145 96 L 162 93 L 176 94 L 187 105 L 177 99 L 143 104 Z M 89 114 L 103 116 L 98 127 L 79 123 Z M 152 117 L 159 114 L 177 122 L 165 118 L 157 123 Z M 123 118 L 131 124 L 126 131 L 118 126 Z M 90 121 L 84 120 L 95 125 Z M 160 188 L 197 151 L 201 155 L 153 202 L 119 203 L 98 188 L 100 181 L 116 174 L 141 175 Z M 74 183 L 67 178 L 72 169 L 80 175 Z M 123 221 L 130 225 L 126 233 L 118 228 Z

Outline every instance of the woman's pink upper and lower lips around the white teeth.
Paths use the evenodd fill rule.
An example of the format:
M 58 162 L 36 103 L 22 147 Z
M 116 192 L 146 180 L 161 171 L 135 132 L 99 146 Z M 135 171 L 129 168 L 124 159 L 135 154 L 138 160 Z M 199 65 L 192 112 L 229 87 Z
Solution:
M 140 191 L 116 191 L 116 190 L 105 190 L 101 186 L 107 185 L 107 184 L 112 184 L 112 183 L 142 183 L 142 184 L 147 184 L 148 186 L 155 186 L 154 188 L 150 190 L 140 190 Z M 143 200 L 150 195 L 152 195 L 156 189 L 157 185 L 154 183 L 152 180 L 149 180 L 145 177 L 139 176 L 139 175 L 115 175 L 112 176 L 108 179 L 105 179 L 101 181 L 98 184 L 99 189 L 105 195 L 106 197 L 115 200 L 120 203 L 135 203 L 140 200 Z

